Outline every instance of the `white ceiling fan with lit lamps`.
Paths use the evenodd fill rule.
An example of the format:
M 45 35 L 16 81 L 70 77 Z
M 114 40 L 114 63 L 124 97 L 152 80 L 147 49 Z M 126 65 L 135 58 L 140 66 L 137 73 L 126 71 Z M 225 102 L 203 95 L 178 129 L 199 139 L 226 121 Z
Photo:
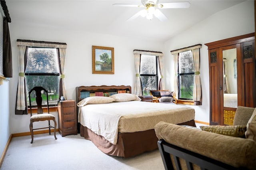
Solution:
M 139 7 L 145 8 L 144 10 L 140 10 L 134 16 L 129 18 L 127 21 L 134 20 L 138 16 L 146 17 L 148 20 L 153 19 L 153 15 L 158 18 L 160 21 L 166 21 L 168 18 L 158 9 L 164 8 L 189 8 L 189 2 L 168 2 L 158 4 L 159 0 L 141 0 L 141 5 L 136 4 L 113 4 L 113 6 L 129 6 L 129 7 Z

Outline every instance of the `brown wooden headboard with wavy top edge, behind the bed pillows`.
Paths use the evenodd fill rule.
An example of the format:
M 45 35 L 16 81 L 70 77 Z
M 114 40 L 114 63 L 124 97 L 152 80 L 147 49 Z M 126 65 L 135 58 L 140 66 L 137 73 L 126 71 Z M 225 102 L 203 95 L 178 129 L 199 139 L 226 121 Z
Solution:
M 131 86 L 106 86 L 106 85 L 101 85 L 101 86 L 80 86 L 76 87 L 76 103 L 80 102 L 83 98 L 81 97 L 81 92 L 83 91 L 89 91 L 90 93 L 95 93 L 95 92 L 118 92 L 118 90 L 125 90 L 126 93 L 132 93 L 132 87 Z

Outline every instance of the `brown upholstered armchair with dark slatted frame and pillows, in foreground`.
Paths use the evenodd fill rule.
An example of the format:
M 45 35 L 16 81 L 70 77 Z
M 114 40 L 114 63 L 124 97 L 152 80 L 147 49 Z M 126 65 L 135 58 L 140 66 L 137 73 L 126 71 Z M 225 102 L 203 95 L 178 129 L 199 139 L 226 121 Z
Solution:
M 201 129 L 204 130 L 201 130 Z M 233 126 L 155 126 L 165 169 L 256 169 L 256 109 L 238 106 Z

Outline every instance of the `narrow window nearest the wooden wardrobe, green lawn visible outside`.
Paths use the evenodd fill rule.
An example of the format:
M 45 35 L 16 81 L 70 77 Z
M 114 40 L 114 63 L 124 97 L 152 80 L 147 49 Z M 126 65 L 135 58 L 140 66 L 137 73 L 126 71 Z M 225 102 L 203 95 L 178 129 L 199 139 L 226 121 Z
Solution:
M 178 57 L 178 99 L 193 100 L 194 74 L 192 51 L 180 52 Z

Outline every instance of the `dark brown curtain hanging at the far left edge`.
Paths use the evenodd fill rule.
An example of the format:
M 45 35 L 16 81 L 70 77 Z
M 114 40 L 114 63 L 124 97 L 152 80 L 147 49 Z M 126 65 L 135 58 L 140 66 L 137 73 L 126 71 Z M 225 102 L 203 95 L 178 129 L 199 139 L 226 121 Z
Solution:
M 4 77 L 12 77 L 12 48 L 7 18 L 4 18 L 4 51 L 3 51 Z

